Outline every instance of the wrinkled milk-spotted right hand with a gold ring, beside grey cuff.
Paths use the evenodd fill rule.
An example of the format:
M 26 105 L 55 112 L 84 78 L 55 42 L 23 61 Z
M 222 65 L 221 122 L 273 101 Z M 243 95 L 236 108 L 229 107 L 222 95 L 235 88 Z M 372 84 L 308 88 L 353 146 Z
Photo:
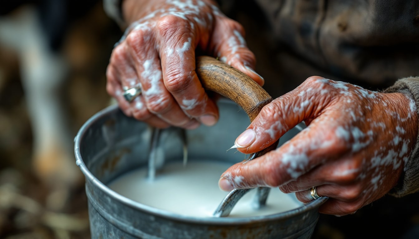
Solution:
M 417 135 L 416 105 L 402 93 L 378 93 L 344 82 L 309 77 L 266 105 L 248 127 L 260 151 L 297 123 L 308 126 L 278 149 L 230 167 L 223 190 L 279 187 L 307 203 L 317 186 L 329 199 L 320 213 L 343 216 L 382 197 L 400 178 Z M 237 145 L 237 139 L 236 144 Z

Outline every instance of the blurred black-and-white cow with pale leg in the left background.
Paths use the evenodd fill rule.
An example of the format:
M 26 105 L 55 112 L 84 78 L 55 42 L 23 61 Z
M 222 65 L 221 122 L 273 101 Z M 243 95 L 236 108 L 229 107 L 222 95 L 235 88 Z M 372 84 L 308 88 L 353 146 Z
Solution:
M 63 105 L 62 93 L 69 66 L 62 54 L 62 43 L 70 23 L 96 2 L 16 0 L 0 3 L 0 43 L 18 54 L 32 126 L 34 173 L 54 192 L 68 193 L 83 182 L 83 175 L 75 164 L 74 134 Z

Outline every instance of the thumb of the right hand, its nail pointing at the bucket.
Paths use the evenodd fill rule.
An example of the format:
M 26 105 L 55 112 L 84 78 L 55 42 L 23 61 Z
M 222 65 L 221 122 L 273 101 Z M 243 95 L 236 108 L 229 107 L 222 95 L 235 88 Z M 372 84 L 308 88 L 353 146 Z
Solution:
M 326 94 L 325 81 L 328 80 L 323 77 L 309 77 L 295 90 L 265 105 L 248 129 L 236 139 L 238 150 L 242 153 L 259 152 L 298 123 L 309 122 L 321 114 L 327 118 L 323 109 L 333 102 L 333 95 Z M 326 131 L 331 129 L 326 126 Z

